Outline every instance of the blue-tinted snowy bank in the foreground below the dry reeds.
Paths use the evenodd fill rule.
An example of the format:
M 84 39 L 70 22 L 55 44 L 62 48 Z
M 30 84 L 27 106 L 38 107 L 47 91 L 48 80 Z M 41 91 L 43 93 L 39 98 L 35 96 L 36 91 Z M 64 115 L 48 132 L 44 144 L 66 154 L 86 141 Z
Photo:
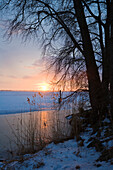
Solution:
M 82 136 L 82 138 L 86 138 Z M 33 155 L 24 155 L 20 161 L 15 160 L 7 166 L 1 163 L 4 170 L 113 170 L 110 162 L 96 162 L 99 153 L 94 148 L 78 147 L 75 139 L 64 143 L 51 143 L 43 150 Z

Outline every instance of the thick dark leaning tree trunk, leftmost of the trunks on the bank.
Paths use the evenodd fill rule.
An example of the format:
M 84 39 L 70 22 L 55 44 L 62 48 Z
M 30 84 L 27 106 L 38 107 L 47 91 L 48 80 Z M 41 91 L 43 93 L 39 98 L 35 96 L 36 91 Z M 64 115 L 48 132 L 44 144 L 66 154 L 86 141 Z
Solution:
M 103 105 L 102 84 L 100 81 L 99 72 L 96 65 L 94 51 L 93 51 L 81 0 L 73 0 L 73 1 L 74 1 L 74 7 L 75 7 L 79 27 L 81 30 L 82 40 L 83 40 L 84 57 L 86 62 L 87 77 L 89 83 L 90 102 L 93 111 L 95 112 L 96 115 L 98 115 L 98 111 L 101 110 Z

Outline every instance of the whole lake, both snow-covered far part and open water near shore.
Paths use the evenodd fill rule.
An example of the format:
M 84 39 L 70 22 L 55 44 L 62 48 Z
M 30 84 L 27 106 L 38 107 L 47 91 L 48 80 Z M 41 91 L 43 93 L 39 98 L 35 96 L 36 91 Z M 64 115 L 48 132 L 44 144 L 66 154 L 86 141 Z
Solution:
M 77 110 L 83 98 L 76 94 L 75 103 L 66 101 L 59 110 L 58 97 L 58 92 L 0 91 L 0 159 L 70 135 L 71 126 L 65 117 L 73 113 L 75 103 Z

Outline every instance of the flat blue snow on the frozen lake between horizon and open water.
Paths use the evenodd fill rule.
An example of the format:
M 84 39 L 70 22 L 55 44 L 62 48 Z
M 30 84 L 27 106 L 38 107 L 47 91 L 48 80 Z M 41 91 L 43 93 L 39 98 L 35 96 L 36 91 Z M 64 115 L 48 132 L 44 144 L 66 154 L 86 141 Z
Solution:
M 69 94 L 71 92 L 63 92 L 62 97 Z M 76 105 L 82 93 L 78 94 L 75 94 Z M 59 92 L 0 91 L 0 115 L 55 109 L 58 98 Z M 66 105 L 69 105 L 68 100 Z

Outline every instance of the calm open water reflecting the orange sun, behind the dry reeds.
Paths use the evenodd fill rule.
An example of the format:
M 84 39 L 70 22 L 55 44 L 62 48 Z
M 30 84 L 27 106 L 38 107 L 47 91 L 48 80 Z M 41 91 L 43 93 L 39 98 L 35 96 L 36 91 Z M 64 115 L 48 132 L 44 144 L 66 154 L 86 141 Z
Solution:
M 69 110 L 62 111 L 35 111 L 31 113 L 9 114 L 0 116 L 0 159 L 10 159 L 23 143 L 30 147 L 32 135 L 35 135 L 35 144 L 40 140 L 45 143 L 53 139 L 69 136 L 71 126 L 65 116 Z

